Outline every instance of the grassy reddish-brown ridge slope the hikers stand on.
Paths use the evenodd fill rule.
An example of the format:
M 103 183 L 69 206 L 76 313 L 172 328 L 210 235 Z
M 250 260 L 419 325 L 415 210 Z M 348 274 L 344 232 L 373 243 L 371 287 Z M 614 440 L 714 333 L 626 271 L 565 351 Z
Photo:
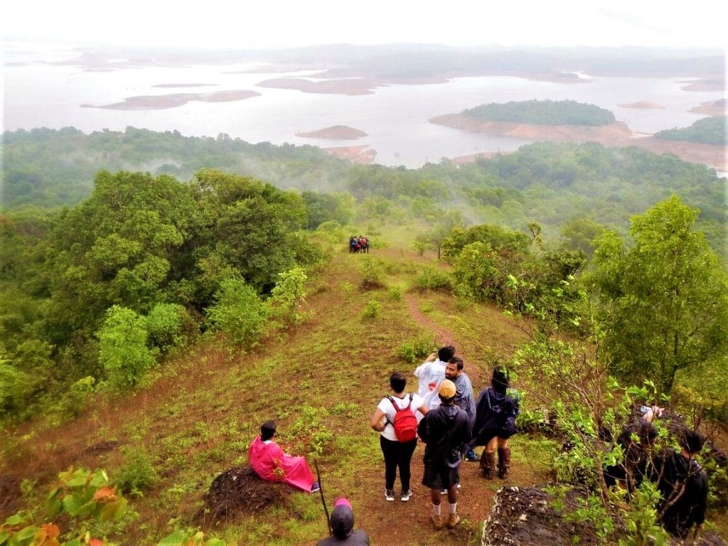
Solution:
M 379 435 L 368 421 L 388 393 L 389 373 L 410 374 L 416 366 L 400 357 L 403 342 L 424 338 L 433 347 L 454 342 L 477 392 L 486 386 L 494 358 L 512 355 L 526 335 L 494 306 L 459 307 L 446 293 L 414 290 L 416 275 L 435 256 L 405 250 L 414 233 L 402 228 L 387 233 L 387 248 L 369 255 L 349 254 L 345 243 L 332 248 L 333 260 L 309 285 L 312 317 L 295 331 L 267 339 L 249 354 L 207 342 L 159 368 L 138 392 L 93 400 L 72 422 L 41 420 L 4 431 L 0 519 L 41 505 L 60 470 L 100 467 L 112 481 L 122 478 L 140 490 L 129 495 L 138 516 L 119 526 L 116 542 L 156 544 L 173 519 L 194 526 L 215 475 L 246 464 L 259 425 L 276 419 L 286 451 L 319 451 L 329 507 L 337 496 L 347 496 L 356 526 L 368 531 L 373 544 L 479 544 L 480 523 L 504 482 L 483 480 L 477 464 L 464 463 L 459 501 L 464 521 L 436 533 L 429 523 L 429 491 L 419 485 L 424 446 L 413 458 L 414 497 L 385 502 Z M 377 239 L 374 245 L 381 247 Z M 384 287 L 360 288 L 366 260 L 381 260 Z M 365 320 L 363 309 L 373 299 L 381 310 Z M 416 389 L 414 378 L 410 387 Z M 512 446 L 507 483 L 529 486 L 550 479 L 549 440 L 520 434 Z M 313 545 L 327 533 L 319 496 L 299 493 L 205 531 L 241 546 Z

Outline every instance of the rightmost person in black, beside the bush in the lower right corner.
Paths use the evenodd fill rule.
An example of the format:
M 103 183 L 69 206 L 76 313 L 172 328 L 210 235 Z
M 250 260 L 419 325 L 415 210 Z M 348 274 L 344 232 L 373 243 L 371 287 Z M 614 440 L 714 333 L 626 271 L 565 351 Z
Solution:
M 703 528 L 708 507 L 708 475 L 695 460 L 703 449 L 704 438 L 699 432 L 684 430 L 680 435 L 678 453 L 668 449 L 658 456 L 651 478 L 657 481 L 660 504 L 657 506 L 660 523 L 670 534 L 685 539 L 693 525 L 695 534 Z

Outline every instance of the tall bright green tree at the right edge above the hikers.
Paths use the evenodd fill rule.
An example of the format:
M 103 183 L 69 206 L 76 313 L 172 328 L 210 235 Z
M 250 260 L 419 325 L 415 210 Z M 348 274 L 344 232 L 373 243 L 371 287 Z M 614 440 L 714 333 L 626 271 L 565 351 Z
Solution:
M 665 392 L 676 373 L 728 348 L 728 275 L 702 232 L 698 211 L 672 196 L 632 218 L 628 248 L 607 231 L 592 279 L 604 303 L 614 371 L 654 378 Z

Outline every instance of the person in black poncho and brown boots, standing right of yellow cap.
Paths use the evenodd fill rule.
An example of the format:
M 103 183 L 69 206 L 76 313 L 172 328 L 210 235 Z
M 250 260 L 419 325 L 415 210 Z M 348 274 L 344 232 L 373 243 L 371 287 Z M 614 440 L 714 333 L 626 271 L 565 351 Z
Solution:
M 475 424 L 472 427 L 470 447 L 486 446 L 480 456 L 483 477 L 493 479 L 495 451 L 498 448 L 498 477 L 506 478 L 510 468 L 508 438 L 518 432 L 515 417 L 518 415 L 518 397 L 508 392 L 508 371 L 503 365 L 493 370 L 491 386 L 480 391 L 475 403 Z

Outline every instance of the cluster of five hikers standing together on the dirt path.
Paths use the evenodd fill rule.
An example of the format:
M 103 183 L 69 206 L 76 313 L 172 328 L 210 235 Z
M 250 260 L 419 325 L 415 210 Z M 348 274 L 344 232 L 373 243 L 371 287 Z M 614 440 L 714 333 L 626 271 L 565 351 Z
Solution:
M 371 417 L 371 427 L 380 432 L 384 455 L 384 498 L 395 499 L 395 478 L 400 474 L 400 500 L 412 495 L 410 462 L 417 438 L 425 444 L 422 485 L 430 489 L 432 526 L 453 529 L 463 460 L 480 462 L 483 478 L 496 474 L 506 478 L 510 468 L 508 440 L 518 432 L 518 395 L 510 390 L 506 368 L 496 365 L 491 385 L 475 399 L 472 382 L 464 372 L 464 362 L 452 346 L 433 352 L 414 371 L 418 392 L 407 393 L 407 378 L 395 372 L 389 377 L 392 395 L 381 399 Z M 485 446 L 478 457 L 473 448 Z M 447 513 L 442 512 L 441 496 L 447 496 Z

